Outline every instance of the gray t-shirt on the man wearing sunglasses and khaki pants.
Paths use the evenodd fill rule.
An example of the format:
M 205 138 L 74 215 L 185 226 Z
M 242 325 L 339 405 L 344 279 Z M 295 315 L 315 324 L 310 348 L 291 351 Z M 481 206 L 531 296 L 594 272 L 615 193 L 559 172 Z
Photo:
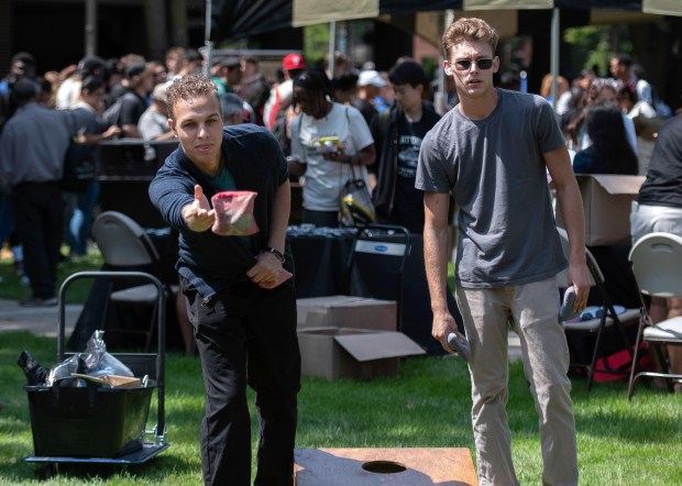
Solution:
M 563 136 L 539 96 L 497 89 L 495 110 L 470 120 L 455 107 L 424 139 L 415 187 L 452 191 L 460 207 L 457 283 L 491 288 L 565 268 L 542 156 Z

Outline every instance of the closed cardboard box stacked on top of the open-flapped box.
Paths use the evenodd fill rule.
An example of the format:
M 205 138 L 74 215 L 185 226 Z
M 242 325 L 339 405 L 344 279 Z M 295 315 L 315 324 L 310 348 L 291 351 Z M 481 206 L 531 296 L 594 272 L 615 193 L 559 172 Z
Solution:
M 354 296 L 327 296 L 297 299 L 298 329 L 356 328 L 395 331 L 395 300 L 378 300 Z

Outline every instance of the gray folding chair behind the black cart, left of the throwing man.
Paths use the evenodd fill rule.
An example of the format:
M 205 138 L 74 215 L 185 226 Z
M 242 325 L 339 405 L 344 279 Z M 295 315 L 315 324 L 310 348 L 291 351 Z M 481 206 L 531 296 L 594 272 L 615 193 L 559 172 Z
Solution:
M 154 243 L 144 229 L 128 216 L 118 211 L 102 212 L 92 224 L 92 235 L 97 242 L 105 264 L 111 269 L 140 269 L 151 268 L 153 274 L 158 274 L 160 255 Z M 168 286 L 166 296 L 173 295 L 174 290 Z M 108 328 L 111 334 L 142 334 L 145 338 L 144 349 L 148 352 L 154 334 L 158 309 L 158 290 L 153 284 L 138 285 L 122 290 L 113 290 L 113 283 L 109 284 L 109 298 L 105 305 L 105 328 L 109 303 L 145 305 L 152 308 L 150 324 L 143 329 Z

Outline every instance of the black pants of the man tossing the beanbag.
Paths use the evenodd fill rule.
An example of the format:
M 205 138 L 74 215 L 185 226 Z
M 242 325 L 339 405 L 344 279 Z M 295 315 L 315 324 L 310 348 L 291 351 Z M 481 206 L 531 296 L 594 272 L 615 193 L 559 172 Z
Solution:
M 184 283 L 185 284 L 185 283 Z M 256 485 L 293 483 L 300 352 L 292 283 L 264 290 L 246 283 L 204 305 L 186 290 L 206 386 L 201 465 L 207 485 L 251 484 L 246 384 L 258 413 Z

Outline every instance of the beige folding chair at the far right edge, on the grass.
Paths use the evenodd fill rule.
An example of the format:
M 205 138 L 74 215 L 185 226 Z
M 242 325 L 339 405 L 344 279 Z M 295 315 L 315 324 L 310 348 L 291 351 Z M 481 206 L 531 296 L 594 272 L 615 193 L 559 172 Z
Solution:
M 635 382 L 640 376 L 666 378 L 668 390 L 673 391 L 673 382 L 682 375 L 671 373 L 662 346 L 682 345 L 682 317 L 667 319 L 654 324 L 647 310 L 644 296 L 682 298 L 682 238 L 670 233 L 650 233 L 639 239 L 628 259 L 639 288 L 641 319 L 635 345 L 635 366 L 630 372 L 627 398 L 632 398 Z M 637 357 L 640 343 L 653 350 L 667 373 L 638 372 Z

